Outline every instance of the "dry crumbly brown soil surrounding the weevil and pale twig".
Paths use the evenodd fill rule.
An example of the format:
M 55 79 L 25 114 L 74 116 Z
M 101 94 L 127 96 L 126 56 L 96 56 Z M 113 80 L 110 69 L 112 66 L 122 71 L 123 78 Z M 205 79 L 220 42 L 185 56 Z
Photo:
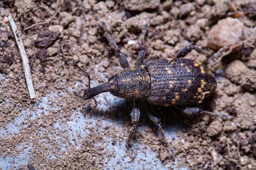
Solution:
M 106 21 L 130 65 L 136 63 L 147 20 L 146 59 L 170 57 L 189 44 L 214 53 L 209 37 L 217 37 L 218 29 L 210 30 L 219 20 L 239 20 L 241 28 L 223 29 L 242 30 L 240 42 L 255 36 L 255 0 L 60 0 L 49 23 L 23 30 L 48 20 L 57 8 L 52 0 L 0 1 L 0 169 L 256 169 L 256 78 L 246 81 L 256 75 L 255 37 L 214 67 L 218 87 L 202 107 L 226 116 L 153 107 L 169 146 L 142 113 L 128 150 L 132 103 L 109 93 L 96 97 L 99 107 L 88 119 L 94 102 L 82 99 L 87 78 L 68 64 L 78 59 L 92 86 L 122 69 L 97 17 Z M 29 57 L 35 102 L 25 100 L 29 94 L 8 14 Z M 207 63 L 195 51 L 186 58 Z

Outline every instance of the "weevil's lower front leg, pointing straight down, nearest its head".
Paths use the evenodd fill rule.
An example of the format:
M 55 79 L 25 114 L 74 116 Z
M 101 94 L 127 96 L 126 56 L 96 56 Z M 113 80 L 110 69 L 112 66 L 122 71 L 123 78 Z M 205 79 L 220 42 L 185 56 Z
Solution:
M 140 109 L 139 109 L 139 106 L 138 106 L 138 101 L 134 101 L 134 107 L 131 111 L 131 123 L 132 123 L 132 127 L 129 131 L 129 134 L 128 134 L 128 139 L 126 141 L 126 144 L 127 144 L 127 147 L 130 145 L 130 141 L 131 141 L 131 137 L 133 136 L 136 128 L 137 128 L 137 125 L 138 125 L 138 122 L 139 122 L 139 118 L 140 118 Z

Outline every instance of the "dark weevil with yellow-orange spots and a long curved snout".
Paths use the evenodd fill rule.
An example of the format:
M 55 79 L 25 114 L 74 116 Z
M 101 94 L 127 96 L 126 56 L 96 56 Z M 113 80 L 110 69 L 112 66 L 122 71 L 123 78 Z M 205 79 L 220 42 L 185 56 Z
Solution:
M 173 58 L 148 59 L 143 63 L 143 59 L 145 58 L 145 29 L 142 32 L 137 65 L 130 66 L 127 58 L 109 34 L 105 21 L 100 21 L 105 31 L 104 35 L 115 48 L 116 55 L 123 70 L 113 75 L 108 82 L 90 88 L 90 74 L 81 69 L 77 65 L 77 61 L 72 62 L 73 66 L 88 77 L 89 88 L 84 90 L 83 98 L 85 100 L 93 99 L 95 102 L 95 105 L 89 112 L 89 117 L 92 117 L 93 111 L 98 105 L 98 102 L 94 98 L 98 94 L 110 92 L 114 96 L 133 101 L 134 106 L 131 111 L 132 127 L 126 141 L 127 145 L 129 145 L 140 118 L 138 102 L 141 99 L 144 99 L 151 105 L 172 105 L 181 112 L 190 115 L 215 115 L 212 112 L 203 111 L 201 108 L 186 107 L 186 105 L 201 103 L 215 91 L 217 83 L 215 76 L 206 68 L 206 65 L 192 59 L 184 59 L 183 57 L 192 50 L 204 54 L 207 57 L 211 56 L 209 52 L 189 45 L 180 49 Z M 153 113 L 150 113 L 150 111 L 147 114 L 149 119 L 157 125 L 164 142 L 166 142 L 160 119 L 154 116 Z

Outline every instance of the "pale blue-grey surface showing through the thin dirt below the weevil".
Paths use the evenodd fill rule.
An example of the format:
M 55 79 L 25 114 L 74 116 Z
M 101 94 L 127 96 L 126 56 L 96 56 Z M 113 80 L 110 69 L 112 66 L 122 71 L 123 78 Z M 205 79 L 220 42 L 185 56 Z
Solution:
M 2 75 L 0 75 L 1 78 Z M 79 83 L 82 84 L 84 88 L 87 88 L 87 80 L 86 77 L 84 77 L 84 82 L 77 82 L 75 85 L 79 85 Z M 92 87 L 97 85 L 95 81 L 91 81 Z M 69 93 L 73 94 L 74 88 L 68 88 Z M 58 104 L 53 106 L 49 105 L 48 101 L 52 101 L 53 99 L 58 99 L 61 98 L 61 96 L 65 95 L 64 93 L 57 94 L 57 92 L 52 92 L 52 94 L 49 94 L 47 96 L 42 96 L 40 100 L 35 102 L 35 107 L 37 108 L 37 113 L 34 111 L 29 111 L 29 110 L 23 110 L 20 112 L 20 114 L 17 116 L 17 118 L 14 119 L 14 121 L 10 122 L 7 125 L 7 130 L 5 130 L 3 127 L 0 127 L 0 136 L 4 138 L 10 138 L 12 137 L 12 134 L 15 133 L 20 133 L 20 127 L 26 127 L 26 124 L 23 124 L 22 122 L 27 116 L 30 116 L 29 119 L 33 120 L 37 116 L 41 116 L 42 114 L 48 114 L 48 112 L 56 110 L 56 109 L 61 109 L 58 107 Z M 50 99 L 50 100 L 49 100 Z M 98 111 L 106 111 L 109 108 L 109 105 L 114 105 L 114 106 L 120 106 L 123 105 L 125 100 L 124 99 L 119 99 L 114 96 L 112 96 L 110 93 L 105 93 L 105 94 L 100 94 L 97 96 L 98 100 L 101 100 L 101 104 L 98 105 L 97 110 Z M 116 107 L 112 107 L 111 111 L 115 110 Z M 48 111 L 46 111 L 48 110 Z M 86 109 L 87 110 L 87 109 Z M 31 116 L 32 114 L 32 116 Z M 71 147 L 81 147 L 81 140 L 82 138 L 87 136 L 87 133 L 90 133 L 89 130 L 85 129 L 84 125 L 87 124 L 89 127 L 94 127 L 96 126 L 96 121 L 100 119 L 100 114 L 94 114 L 94 116 L 91 119 L 88 119 L 86 117 L 87 114 L 81 113 L 80 111 L 74 112 L 72 116 L 70 117 L 70 121 L 61 123 L 57 122 L 53 125 L 53 127 L 62 132 L 62 131 L 67 131 L 68 137 L 69 137 L 69 142 L 64 141 L 61 137 L 55 136 L 57 139 L 56 141 L 58 142 L 58 145 L 61 146 L 61 151 L 68 150 L 69 148 L 66 147 L 65 144 L 69 143 L 70 148 Z M 115 128 L 119 131 L 124 130 L 122 127 L 122 118 L 119 118 L 117 121 L 111 120 L 111 119 L 105 119 L 102 120 L 101 128 L 105 128 L 109 126 L 110 124 L 115 124 Z M 148 125 L 142 125 L 138 127 L 139 130 L 144 130 L 145 127 Z M 164 128 L 165 134 L 167 139 L 173 139 L 177 138 L 175 130 L 177 130 L 177 126 L 167 126 Z M 49 134 L 49 131 L 47 128 L 41 128 L 40 132 L 38 135 L 41 134 Z M 159 135 L 159 133 L 158 133 Z M 80 136 L 80 137 L 79 137 Z M 52 139 L 52 135 L 49 134 L 49 139 Z M 41 139 L 39 142 L 47 144 L 50 148 L 52 147 L 51 144 L 47 141 L 48 139 Z M 113 166 L 111 165 L 116 165 L 116 168 L 122 168 L 126 167 L 126 170 L 130 169 L 151 169 L 154 167 L 154 169 L 160 169 L 160 170 L 167 170 L 169 167 L 167 165 L 163 165 L 161 161 L 156 157 L 156 153 L 150 149 L 145 149 L 145 146 L 140 143 L 134 143 L 133 148 L 140 148 L 140 150 L 136 150 L 137 156 L 134 161 L 129 161 L 129 156 L 124 157 L 125 152 L 127 151 L 127 148 L 125 146 L 125 141 L 119 142 L 120 144 L 112 145 L 111 144 L 111 137 L 104 137 L 104 140 L 108 141 L 106 142 L 105 149 L 108 150 L 109 152 L 115 152 L 116 157 L 112 157 L 109 161 L 108 164 L 105 164 L 105 169 L 113 169 Z M 24 147 L 26 146 L 26 147 Z M 144 149 L 143 149 L 144 147 Z M 17 157 L 12 157 L 12 156 L 6 156 L 2 157 L 0 156 L 0 167 L 2 170 L 9 170 L 10 167 L 14 167 L 15 169 L 18 168 L 19 165 L 26 165 L 29 162 L 29 154 L 30 151 L 33 149 L 33 144 L 32 143 L 22 143 L 19 146 L 17 146 L 17 149 L 19 150 L 19 155 Z M 55 159 L 61 159 L 61 156 L 54 155 L 53 153 L 49 152 L 47 159 L 49 160 L 55 160 Z M 105 157 L 107 159 L 107 157 Z M 116 162 L 120 161 L 121 164 L 117 165 Z M 170 162 L 169 166 L 177 170 L 176 165 L 171 165 L 172 162 Z M 177 164 L 177 160 L 175 162 Z M 119 167 L 118 167 L 119 166 Z M 180 168 L 180 170 L 188 170 L 187 168 Z

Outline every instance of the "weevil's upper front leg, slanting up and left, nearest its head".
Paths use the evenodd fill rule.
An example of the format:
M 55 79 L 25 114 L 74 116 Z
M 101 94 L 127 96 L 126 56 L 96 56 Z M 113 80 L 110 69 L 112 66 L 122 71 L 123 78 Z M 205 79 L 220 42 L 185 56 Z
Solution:
M 119 46 L 116 44 L 116 42 L 113 40 L 113 38 L 111 37 L 111 35 L 108 33 L 108 27 L 106 25 L 106 22 L 99 19 L 101 24 L 102 24 L 102 27 L 105 31 L 105 34 L 104 36 L 108 39 L 108 42 L 110 42 L 114 48 L 116 49 L 116 55 L 119 59 L 119 62 L 120 62 L 120 65 L 122 66 L 122 68 L 128 68 L 129 67 L 129 62 L 127 60 L 127 58 L 125 57 L 125 54 L 123 54 L 121 51 L 120 51 L 120 48 Z

